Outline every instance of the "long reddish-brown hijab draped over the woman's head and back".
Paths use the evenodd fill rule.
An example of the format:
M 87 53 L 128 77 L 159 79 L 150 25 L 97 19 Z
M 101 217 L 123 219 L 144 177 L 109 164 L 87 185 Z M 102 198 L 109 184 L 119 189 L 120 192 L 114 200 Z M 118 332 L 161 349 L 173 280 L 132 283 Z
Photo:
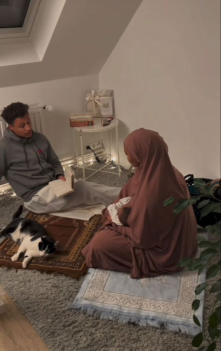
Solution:
M 192 246 L 189 247 L 191 255 L 196 244 L 192 206 L 178 215 L 173 213 L 173 206 L 163 207 L 163 202 L 169 197 L 189 197 L 184 177 L 171 164 L 165 141 L 157 132 L 140 128 L 128 135 L 124 149 L 140 163 L 133 178 L 120 193 L 120 197 L 133 196 L 129 203 L 132 206 L 128 219 L 130 227 L 124 228 L 124 235 L 131 238 L 134 248 L 155 247 L 168 252 L 169 256 L 180 243 L 181 236 L 182 240 L 189 240 L 188 236 L 191 236 L 187 244 Z M 186 228 L 188 225 L 189 228 Z M 179 248 L 179 258 L 185 254 L 185 246 L 183 244 L 184 250 Z

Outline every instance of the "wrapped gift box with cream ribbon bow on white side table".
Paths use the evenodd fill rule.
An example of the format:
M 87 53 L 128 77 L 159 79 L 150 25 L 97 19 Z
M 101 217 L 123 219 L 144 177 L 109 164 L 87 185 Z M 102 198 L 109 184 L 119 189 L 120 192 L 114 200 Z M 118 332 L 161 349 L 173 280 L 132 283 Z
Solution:
M 93 117 L 113 117 L 113 90 L 86 90 L 86 104 Z

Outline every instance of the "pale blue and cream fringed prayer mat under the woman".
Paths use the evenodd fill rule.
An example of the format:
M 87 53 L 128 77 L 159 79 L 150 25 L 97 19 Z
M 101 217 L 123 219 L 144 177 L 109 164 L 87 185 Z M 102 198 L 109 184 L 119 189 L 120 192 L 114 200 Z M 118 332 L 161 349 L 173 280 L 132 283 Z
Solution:
M 198 234 L 207 236 L 202 230 Z M 201 328 L 193 322 L 192 302 L 196 286 L 204 281 L 205 272 L 198 276 L 197 271 L 132 279 L 127 273 L 89 269 L 72 308 L 142 326 L 164 324 L 195 335 Z M 204 292 L 197 298 L 203 296 Z M 203 304 L 195 314 L 202 325 Z

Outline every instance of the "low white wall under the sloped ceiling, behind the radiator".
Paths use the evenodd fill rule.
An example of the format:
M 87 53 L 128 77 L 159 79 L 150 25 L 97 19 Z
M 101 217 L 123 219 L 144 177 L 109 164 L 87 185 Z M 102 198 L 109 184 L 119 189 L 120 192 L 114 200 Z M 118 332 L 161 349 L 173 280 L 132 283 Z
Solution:
M 97 74 L 0 88 L 0 110 L 17 101 L 53 106 L 53 113 L 44 111 L 45 135 L 60 159 L 73 157 L 76 153 L 70 114 L 85 112 L 85 90 L 97 88 Z

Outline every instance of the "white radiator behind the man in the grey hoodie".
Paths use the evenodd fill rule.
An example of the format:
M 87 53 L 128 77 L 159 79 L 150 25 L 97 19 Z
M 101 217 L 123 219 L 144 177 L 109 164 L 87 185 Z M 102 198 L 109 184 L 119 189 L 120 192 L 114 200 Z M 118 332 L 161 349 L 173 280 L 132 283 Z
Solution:
M 35 109 L 29 109 L 28 111 L 30 119 L 32 121 L 32 129 L 35 132 L 39 132 L 44 134 L 44 115 L 43 115 L 43 108 L 35 108 Z M 1 114 L 1 111 L 0 111 Z M 2 117 L 0 117 L 0 139 L 3 138 L 4 131 L 7 128 L 7 123 Z M 0 179 L 0 186 L 3 184 L 6 184 L 7 180 L 5 177 L 2 177 Z M 0 191 L 1 193 L 1 191 Z

